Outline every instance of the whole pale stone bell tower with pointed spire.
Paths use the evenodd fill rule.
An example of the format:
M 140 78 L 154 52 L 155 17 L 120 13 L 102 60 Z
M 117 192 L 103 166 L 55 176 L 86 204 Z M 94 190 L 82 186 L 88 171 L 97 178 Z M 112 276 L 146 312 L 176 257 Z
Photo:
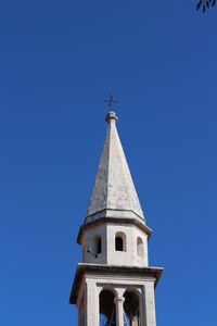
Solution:
M 78 326 L 155 326 L 154 289 L 163 268 L 150 267 L 146 226 L 116 129 L 108 112 L 107 133 L 84 225 L 69 303 Z

